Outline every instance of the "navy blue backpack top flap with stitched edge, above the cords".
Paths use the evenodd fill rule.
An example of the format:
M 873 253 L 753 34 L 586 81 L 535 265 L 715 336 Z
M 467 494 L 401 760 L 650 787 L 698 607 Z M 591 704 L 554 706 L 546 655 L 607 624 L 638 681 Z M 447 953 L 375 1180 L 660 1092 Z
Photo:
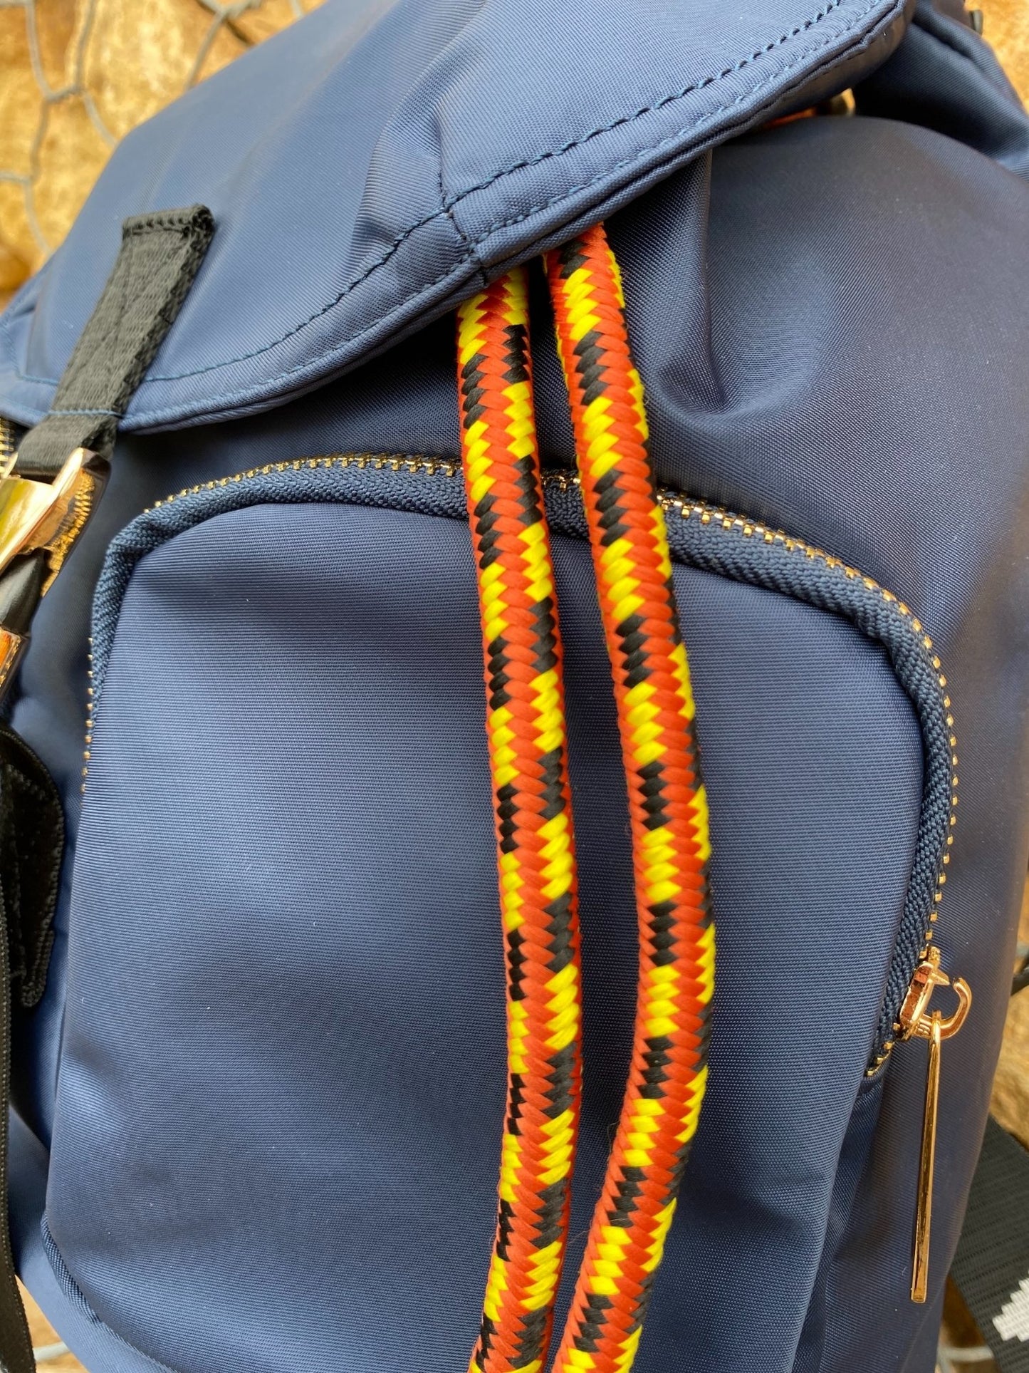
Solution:
M 125 427 L 265 408 L 701 150 L 844 89 L 910 8 L 329 0 L 125 139 L 7 313 L 0 413 L 49 408 L 128 216 L 200 202 L 221 228 Z

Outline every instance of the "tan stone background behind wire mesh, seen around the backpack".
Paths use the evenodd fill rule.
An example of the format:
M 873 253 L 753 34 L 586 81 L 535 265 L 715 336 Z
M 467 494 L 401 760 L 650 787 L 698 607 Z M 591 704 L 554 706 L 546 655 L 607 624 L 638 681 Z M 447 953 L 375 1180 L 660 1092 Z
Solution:
M 60 243 L 118 139 L 318 3 L 0 0 L 0 305 Z M 1029 0 L 980 3 L 1029 100 Z M 1022 917 L 1029 942 L 1029 902 Z M 1029 991 L 1013 1002 L 993 1109 L 1029 1145 Z M 37 1344 L 54 1339 L 32 1319 Z

